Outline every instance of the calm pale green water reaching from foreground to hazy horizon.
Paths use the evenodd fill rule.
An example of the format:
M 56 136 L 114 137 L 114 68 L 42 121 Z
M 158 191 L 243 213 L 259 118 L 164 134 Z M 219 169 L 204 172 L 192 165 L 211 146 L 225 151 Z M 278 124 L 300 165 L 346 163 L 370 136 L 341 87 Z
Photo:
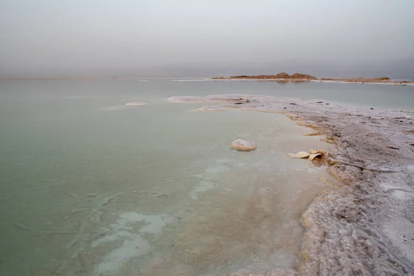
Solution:
M 335 181 L 286 153 L 328 144 L 284 115 L 195 112 L 200 105 L 167 101 L 232 92 L 414 106 L 413 88 L 396 86 L 1 81 L 0 274 L 294 268 L 299 217 Z M 132 101 L 149 104 L 125 106 Z M 257 150 L 230 150 L 238 138 Z

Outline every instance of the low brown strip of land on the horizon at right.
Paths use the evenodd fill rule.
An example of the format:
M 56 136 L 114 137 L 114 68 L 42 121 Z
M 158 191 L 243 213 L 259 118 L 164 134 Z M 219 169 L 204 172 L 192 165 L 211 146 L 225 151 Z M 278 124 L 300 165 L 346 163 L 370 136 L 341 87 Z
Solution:
M 321 78 L 313 77 L 308 74 L 295 73 L 289 75 L 286 72 L 281 72 L 277 75 L 240 75 L 231 77 L 213 77 L 212 79 L 253 79 L 259 81 L 319 81 L 319 82 L 348 82 L 348 83 L 394 83 L 406 85 L 413 84 L 414 81 L 392 81 L 389 77 L 375 77 L 375 78 L 354 78 L 354 79 L 340 79 L 340 78 Z

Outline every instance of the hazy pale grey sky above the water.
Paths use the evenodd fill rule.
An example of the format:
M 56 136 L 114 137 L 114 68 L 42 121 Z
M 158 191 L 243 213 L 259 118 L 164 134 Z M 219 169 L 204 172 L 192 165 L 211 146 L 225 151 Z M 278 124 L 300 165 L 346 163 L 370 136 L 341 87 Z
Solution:
M 0 73 L 413 59 L 413 13 L 413 0 L 1 0 Z

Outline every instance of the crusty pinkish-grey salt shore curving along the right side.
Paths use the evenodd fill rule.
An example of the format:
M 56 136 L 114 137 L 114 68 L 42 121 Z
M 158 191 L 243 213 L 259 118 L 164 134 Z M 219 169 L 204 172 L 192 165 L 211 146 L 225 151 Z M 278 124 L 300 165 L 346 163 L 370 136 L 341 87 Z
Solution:
M 344 185 L 316 197 L 302 215 L 295 273 L 234 275 L 414 275 L 414 112 L 258 95 L 169 101 L 284 113 L 336 144 L 327 170 Z

